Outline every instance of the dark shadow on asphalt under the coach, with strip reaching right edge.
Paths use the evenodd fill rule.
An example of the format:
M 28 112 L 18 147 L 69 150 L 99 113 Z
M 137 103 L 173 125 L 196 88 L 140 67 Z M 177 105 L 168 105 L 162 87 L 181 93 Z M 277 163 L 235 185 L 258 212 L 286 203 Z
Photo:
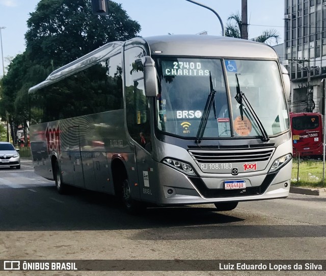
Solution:
M 6 188 L 0 194 L 0 231 L 139 229 L 130 237 L 137 240 L 326 236 L 325 226 L 239 225 L 245 216 L 219 213 L 212 206 L 148 208 L 134 216 L 116 198 L 96 192 L 74 189 L 60 196 L 52 186 Z

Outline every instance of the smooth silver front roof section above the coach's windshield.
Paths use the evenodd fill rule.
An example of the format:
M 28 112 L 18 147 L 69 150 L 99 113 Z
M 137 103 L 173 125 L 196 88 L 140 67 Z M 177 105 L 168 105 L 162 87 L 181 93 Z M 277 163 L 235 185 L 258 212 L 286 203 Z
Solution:
M 276 51 L 269 45 L 245 39 L 206 35 L 167 35 L 144 39 L 150 46 L 151 54 L 163 56 L 278 59 Z

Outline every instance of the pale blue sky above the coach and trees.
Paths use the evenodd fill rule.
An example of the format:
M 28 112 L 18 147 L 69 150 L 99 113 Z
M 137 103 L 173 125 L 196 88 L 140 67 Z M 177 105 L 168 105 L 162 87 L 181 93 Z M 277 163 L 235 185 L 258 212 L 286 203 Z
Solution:
M 89 0 L 91 1 L 91 0 Z M 8 61 L 25 50 L 26 21 L 40 0 L 0 0 L 0 27 L 5 71 Z M 140 23 L 140 36 L 167 34 L 208 35 L 222 33 L 218 17 L 210 10 L 186 0 L 114 0 L 129 17 Z M 196 0 L 215 10 L 224 25 L 231 13 L 241 13 L 241 0 Z M 275 29 L 284 37 L 284 0 L 248 0 L 249 38 L 264 30 Z M 274 42 L 272 45 L 275 44 Z M 0 77 L 3 75 L 1 63 Z

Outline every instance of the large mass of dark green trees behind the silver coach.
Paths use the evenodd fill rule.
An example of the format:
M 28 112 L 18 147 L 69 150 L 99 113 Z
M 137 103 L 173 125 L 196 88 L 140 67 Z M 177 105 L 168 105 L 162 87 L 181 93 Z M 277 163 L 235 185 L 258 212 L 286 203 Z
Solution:
M 8 111 L 14 143 L 18 125 L 24 132 L 27 127 L 30 87 L 107 42 L 137 36 L 139 23 L 120 4 L 110 2 L 109 10 L 109 15 L 98 16 L 92 14 L 90 0 L 41 0 L 30 14 L 26 50 L 12 59 L 2 79 L 0 116 L 6 118 Z

